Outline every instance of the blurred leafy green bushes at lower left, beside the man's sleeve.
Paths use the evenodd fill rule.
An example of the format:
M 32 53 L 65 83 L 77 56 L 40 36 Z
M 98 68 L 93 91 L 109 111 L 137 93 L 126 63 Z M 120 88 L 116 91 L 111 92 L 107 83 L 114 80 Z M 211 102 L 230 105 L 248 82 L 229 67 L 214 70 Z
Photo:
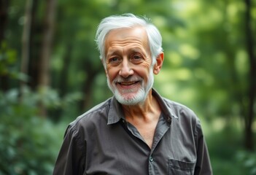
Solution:
M 66 124 L 40 117 L 39 93 L 0 93 L 0 174 L 51 174 Z M 58 100 L 44 101 L 58 106 Z

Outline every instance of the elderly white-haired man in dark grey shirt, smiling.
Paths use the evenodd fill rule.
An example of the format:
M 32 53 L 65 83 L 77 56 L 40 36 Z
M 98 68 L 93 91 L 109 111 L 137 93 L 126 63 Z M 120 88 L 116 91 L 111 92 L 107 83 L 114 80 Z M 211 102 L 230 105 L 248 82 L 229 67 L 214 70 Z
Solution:
M 212 174 L 198 117 L 152 88 L 162 37 L 147 18 L 104 18 L 96 42 L 114 96 L 66 130 L 53 174 Z

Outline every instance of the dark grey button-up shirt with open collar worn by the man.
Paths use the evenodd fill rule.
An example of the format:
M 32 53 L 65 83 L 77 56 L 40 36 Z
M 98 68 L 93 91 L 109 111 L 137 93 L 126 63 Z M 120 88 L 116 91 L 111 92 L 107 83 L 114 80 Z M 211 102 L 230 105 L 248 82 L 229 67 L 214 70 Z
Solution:
M 152 93 L 162 109 L 152 149 L 109 98 L 69 125 L 53 174 L 212 174 L 198 117 Z

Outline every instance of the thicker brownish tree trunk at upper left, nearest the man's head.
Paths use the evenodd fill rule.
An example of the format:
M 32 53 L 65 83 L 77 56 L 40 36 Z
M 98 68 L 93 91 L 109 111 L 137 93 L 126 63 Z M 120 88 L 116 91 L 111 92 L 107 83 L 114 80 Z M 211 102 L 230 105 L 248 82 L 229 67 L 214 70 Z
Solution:
M 39 61 L 39 87 L 47 88 L 50 85 L 50 54 L 53 44 L 53 31 L 55 23 L 56 0 L 47 0 L 44 16 L 44 33 L 42 38 L 42 52 Z M 47 111 L 42 102 L 39 103 L 39 111 L 42 116 L 47 115 Z

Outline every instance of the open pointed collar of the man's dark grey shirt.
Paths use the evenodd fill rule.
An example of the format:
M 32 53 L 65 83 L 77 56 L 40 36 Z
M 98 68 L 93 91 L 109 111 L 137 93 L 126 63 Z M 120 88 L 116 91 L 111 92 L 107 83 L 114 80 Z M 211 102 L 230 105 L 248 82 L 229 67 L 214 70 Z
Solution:
M 178 118 L 177 115 L 174 113 L 174 110 L 166 104 L 166 101 L 164 101 L 163 97 L 161 97 L 154 88 L 152 88 L 152 96 L 155 96 L 155 98 L 158 100 L 163 116 L 165 117 L 167 123 L 171 124 L 172 117 Z M 112 97 L 107 124 L 111 125 L 117 123 L 121 119 L 125 119 L 122 105 L 117 101 L 115 97 Z

